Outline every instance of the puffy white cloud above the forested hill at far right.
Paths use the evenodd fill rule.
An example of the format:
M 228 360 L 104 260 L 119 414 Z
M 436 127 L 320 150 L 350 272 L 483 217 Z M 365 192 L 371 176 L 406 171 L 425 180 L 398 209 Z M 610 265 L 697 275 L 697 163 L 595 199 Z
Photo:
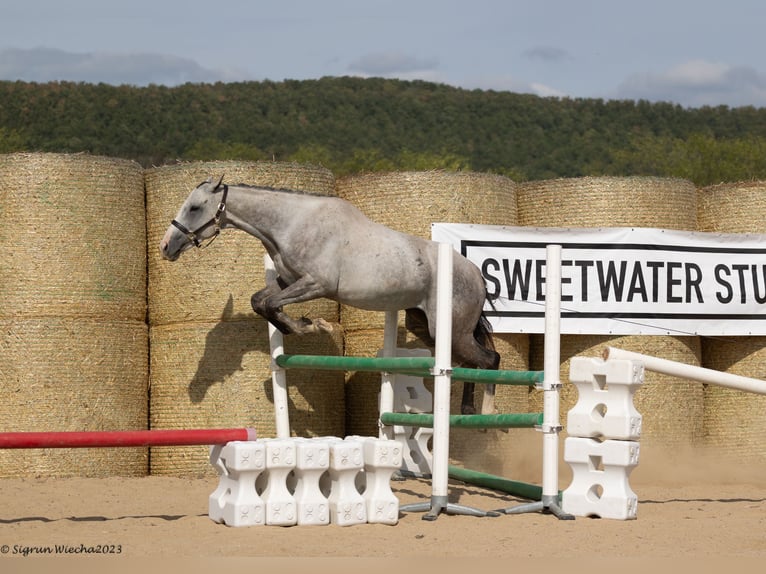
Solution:
M 690 107 L 764 106 L 766 74 L 746 66 L 690 60 L 661 73 L 630 76 L 620 84 L 617 96 Z

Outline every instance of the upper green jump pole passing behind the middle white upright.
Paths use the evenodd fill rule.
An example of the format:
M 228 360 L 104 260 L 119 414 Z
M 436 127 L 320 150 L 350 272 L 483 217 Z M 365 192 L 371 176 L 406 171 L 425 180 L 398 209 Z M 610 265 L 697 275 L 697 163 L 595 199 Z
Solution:
M 276 363 L 283 369 L 325 371 L 387 371 L 416 377 L 432 377 L 433 357 L 339 357 L 326 355 L 279 355 Z M 493 371 L 490 369 L 452 369 L 456 381 L 497 385 L 534 386 L 543 381 L 542 371 Z

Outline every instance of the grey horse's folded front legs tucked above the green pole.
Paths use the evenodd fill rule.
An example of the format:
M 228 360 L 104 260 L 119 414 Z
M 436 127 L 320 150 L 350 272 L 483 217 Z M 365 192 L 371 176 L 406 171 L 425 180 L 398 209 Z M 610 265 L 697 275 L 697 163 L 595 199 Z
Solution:
M 284 305 L 318 299 L 325 295 L 324 288 L 311 276 L 301 277 L 284 289 L 277 283 L 271 283 L 250 298 L 253 311 L 261 315 L 285 335 L 305 335 L 307 333 L 333 330 L 324 319 L 301 317 L 294 319 L 282 310 Z

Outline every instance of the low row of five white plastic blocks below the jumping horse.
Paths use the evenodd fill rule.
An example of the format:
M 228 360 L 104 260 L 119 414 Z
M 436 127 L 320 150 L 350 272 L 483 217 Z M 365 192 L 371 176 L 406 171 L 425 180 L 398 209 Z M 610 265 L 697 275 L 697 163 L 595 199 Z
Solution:
M 258 439 L 213 446 L 219 483 L 211 520 L 228 526 L 396 524 L 397 441 L 374 437 Z

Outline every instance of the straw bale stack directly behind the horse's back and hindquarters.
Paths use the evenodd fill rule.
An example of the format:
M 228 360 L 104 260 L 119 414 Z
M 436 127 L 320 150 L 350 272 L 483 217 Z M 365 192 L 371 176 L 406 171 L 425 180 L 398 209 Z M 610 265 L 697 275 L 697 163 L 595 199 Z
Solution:
M 419 237 L 431 237 L 432 223 L 516 224 L 516 184 L 502 176 L 442 171 L 373 173 L 340 179 L 336 187 L 338 196 L 356 205 L 373 221 Z M 384 313 L 342 306 L 341 321 L 346 355 L 375 356 L 382 348 Z M 406 332 L 404 313 L 399 318 L 398 345 L 422 346 Z M 527 335 L 495 335 L 495 345 L 502 356 L 502 368 L 528 368 Z M 351 374 L 346 385 L 347 432 L 377 433 L 379 375 Z M 477 385 L 476 389 L 479 395 L 476 402 L 480 405 L 483 387 Z M 461 394 L 460 385 L 454 385 L 452 412 L 459 412 Z M 496 406 L 500 412 L 526 412 L 527 397 L 526 388 L 499 386 Z M 491 458 L 497 447 L 497 434 L 455 429 L 451 433 L 451 454 L 460 461 L 472 452 L 482 453 L 486 463 L 487 455 Z

